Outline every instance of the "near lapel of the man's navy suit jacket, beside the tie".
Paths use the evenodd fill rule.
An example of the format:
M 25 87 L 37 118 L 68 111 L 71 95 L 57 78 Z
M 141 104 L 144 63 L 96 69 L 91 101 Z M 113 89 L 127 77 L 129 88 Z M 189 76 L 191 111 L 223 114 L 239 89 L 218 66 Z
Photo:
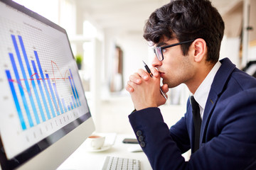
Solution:
M 206 101 L 206 108 L 203 113 L 203 121 L 201 125 L 201 135 L 200 135 L 200 143 L 204 142 L 208 123 L 210 121 L 210 117 L 213 113 L 213 110 L 218 102 L 218 97 L 224 90 L 224 86 L 228 81 L 228 77 L 235 69 L 235 64 L 230 62 L 228 58 L 220 60 L 221 66 L 218 72 L 216 73 L 213 84 L 210 87 L 210 93 L 208 95 L 208 99 Z

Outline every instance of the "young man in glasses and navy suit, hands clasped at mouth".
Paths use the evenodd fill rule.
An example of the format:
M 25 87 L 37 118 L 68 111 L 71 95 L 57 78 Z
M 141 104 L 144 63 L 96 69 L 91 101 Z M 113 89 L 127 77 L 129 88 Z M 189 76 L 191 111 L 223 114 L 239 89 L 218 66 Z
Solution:
M 136 109 L 129 121 L 153 169 L 256 169 L 256 79 L 228 58 L 218 61 L 223 31 L 208 0 L 171 1 L 146 22 L 153 77 L 139 69 L 126 89 Z M 157 108 L 166 102 L 160 78 L 164 93 L 186 84 L 192 96 L 170 129 Z

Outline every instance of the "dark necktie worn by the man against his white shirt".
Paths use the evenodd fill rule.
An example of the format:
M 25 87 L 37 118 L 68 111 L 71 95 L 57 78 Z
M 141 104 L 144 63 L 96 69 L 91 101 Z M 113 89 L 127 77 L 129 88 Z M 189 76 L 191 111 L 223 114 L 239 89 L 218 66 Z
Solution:
M 191 96 L 191 106 L 192 106 L 192 113 L 193 113 L 193 123 L 195 128 L 195 141 L 194 141 L 194 149 L 193 152 L 199 149 L 199 140 L 200 140 L 200 131 L 201 131 L 201 116 L 200 116 L 200 109 L 199 105 L 196 102 L 195 98 Z

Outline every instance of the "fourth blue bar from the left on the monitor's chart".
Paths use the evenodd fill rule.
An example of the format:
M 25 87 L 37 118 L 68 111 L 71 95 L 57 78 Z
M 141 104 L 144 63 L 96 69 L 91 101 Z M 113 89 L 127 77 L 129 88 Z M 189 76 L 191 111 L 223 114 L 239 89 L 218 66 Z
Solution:
M 43 122 L 44 122 L 44 121 L 46 121 L 46 118 L 45 118 L 45 116 L 44 116 L 44 114 L 43 114 L 43 107 L 42 107 L 42 105 L 41 105 L 41 101 L 40 101 L 40 98 L 39 98 L 39 96 L 38 96 L 38 91 L 37 91 L 37 89 L 36 89 L 36 83 L 35 83 L 35 81 L 34 81 L 34 79 L 33 79 L 34 74 L 32 74 L 32 72 L 31 72 L 31 67 L 30 67 L 29 62 L 28 62 L 28 56 L 26 55 L 26 50 L 25 50 L 25 47 L 24 47 L 24 45 L 23 45 L 23 40 L 22 40 L 22 38 L 21 38 L 20 35 L 18 35 L 18 39 L 19 39 L 19 41 L 20 41 L 20 43 L 21 43 L 21 49 L 22 49 L 22 52 L 23 52 L 23 55 L 24 55 L 24 60 L 25 60 L 25 62 L 26 62 L 26 67 L 27 67 L 27 69 L 28 69 L 28 74 L 29 74 L 29 77 L 30 77 L 30 80 L 31 80 L 31 84 L 32 84 L 32 86 L 33 86 L 34 94 L 35 94 L 35 96 L 36 96 L 36 101 L 37 101 L 37 103 L 38 103 L 38 108 L 39 108 L 39 111 L 40 111 L 40 113 L 41 113 L 42 120 L 43 120 Z

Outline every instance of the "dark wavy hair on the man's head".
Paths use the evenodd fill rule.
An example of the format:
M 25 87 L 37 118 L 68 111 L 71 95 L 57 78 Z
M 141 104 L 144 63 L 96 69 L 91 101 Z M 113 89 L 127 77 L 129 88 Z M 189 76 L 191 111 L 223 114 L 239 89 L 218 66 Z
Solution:
M 224 32 L 223 18 L 208 0 L 176 0 L 151 13 L 144 28 L 144 38 L 158 43 L 161 38 L 179 42 L 203 38 L 208 47 L 206 61 L 217 62 Z M 191 43 L 181 45 L 187 55 Z

